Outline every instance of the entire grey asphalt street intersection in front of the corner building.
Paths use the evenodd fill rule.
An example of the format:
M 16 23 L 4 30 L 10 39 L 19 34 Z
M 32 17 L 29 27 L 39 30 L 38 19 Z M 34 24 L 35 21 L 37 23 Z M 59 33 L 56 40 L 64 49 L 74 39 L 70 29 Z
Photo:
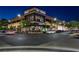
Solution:
M 79 39 L 71 37 L 68 33 L 1 35 L 0 46 L 67 47 L 79 49 Z

